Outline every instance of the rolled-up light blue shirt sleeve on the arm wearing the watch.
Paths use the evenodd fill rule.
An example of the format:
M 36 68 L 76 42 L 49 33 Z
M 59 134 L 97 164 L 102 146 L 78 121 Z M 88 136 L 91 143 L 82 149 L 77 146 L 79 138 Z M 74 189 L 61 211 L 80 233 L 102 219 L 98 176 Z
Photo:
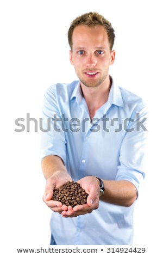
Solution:
M 120 165 L 116 175 L 116 180 L 128 180 L 133 183 L 137 193 L 146 172 L 147 114 L 143 104 L 135 107 L 131 114 L 121 145 Z

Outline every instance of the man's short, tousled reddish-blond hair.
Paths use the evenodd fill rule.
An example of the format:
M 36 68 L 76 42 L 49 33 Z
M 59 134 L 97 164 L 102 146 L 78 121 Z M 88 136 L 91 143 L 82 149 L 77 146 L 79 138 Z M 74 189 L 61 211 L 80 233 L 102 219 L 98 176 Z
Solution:
M 102 15 L 96 12 L 83 14 L 72 21 L 71 26 L 68 29 L 68 43 L 70 45 L 71 50 L 73 44 L 72 34 L 74 28 L 76 28 L 79 25 L 85 25 L 88 27 L 95 27 L 97 25 L 103 26 L 106 29 L 106 33 L 108 34 L 110 50 L 112 50 L 112 46 L 114 45 L 115 39 L 114 29 L 112 28 L 111 23 L 108 20 L 106 20 Z

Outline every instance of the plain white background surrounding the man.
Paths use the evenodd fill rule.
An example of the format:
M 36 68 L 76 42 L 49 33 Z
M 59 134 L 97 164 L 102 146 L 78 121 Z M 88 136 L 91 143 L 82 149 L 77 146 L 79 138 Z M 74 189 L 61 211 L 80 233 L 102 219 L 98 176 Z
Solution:
M 15 132 L 15 119 L 39 121 L 43 93 L 76 80 L 67 31 L 78 15 L 98 11 L 115 29 L 110 74 L 149 108 L 147 176 L 134 214 L 134 245 L 147 255 L 162 242 L 162 8 L 161 1 L 1 1 L 1 249 L 48 246 L 51 211 L 42 202 L 40 132 Z M 160 146 L 160 147 L 159 147 Z M 159 234 L 160 233 L 160 234 Z M 68 235 L 68 234 L 67 234 Z

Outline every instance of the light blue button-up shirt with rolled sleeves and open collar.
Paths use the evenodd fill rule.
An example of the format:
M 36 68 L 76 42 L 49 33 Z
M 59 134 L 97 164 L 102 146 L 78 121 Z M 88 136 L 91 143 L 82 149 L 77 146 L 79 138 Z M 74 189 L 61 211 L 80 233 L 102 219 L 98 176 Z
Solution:
M 112 81 L 108 101 L 91 124 L 79 81 L 55 84 L 45 93 L 42 113 L 41 158 L 60 156 L 74 181 L 87 175 L 128 180 L 139 192 L 148 133 L 146 106 L 140 97 Z M 100 201 L 91 214 L 74 218 L 53 212 L 52 235 L 57 245 L 131 245 L 134 205 Z

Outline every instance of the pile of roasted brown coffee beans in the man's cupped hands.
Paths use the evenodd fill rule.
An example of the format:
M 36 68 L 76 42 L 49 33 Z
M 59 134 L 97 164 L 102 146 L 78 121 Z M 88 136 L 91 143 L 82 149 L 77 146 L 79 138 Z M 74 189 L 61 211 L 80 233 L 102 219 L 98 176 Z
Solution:
M 53 200 L 59 201 L 62 204 L 76 205 L 86 204 L 88 194 L 80 186 L 78 182 L 68 181 L 63 186 L 54 190 Z

